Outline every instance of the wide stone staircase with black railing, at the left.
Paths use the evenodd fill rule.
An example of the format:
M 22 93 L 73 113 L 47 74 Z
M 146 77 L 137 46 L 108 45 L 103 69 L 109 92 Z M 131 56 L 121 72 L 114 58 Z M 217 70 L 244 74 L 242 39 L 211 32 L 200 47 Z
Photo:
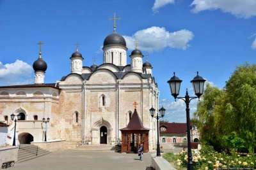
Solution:
M 42 157 L 49 153 L 51 152 L 44 150 L 36 145 L 22 144 L 21 146 L 19 146 L 17 162 L 24 162 L 27 160 L 35 159 L 37 157 Z

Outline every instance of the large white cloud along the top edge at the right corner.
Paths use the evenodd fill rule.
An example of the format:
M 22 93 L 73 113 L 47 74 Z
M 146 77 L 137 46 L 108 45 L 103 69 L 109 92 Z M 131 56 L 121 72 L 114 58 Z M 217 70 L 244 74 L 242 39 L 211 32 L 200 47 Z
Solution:
M 256 16 L 255 0 L 194 0 L 191 6 L 195 13 L 204 10 L 221 10 L 240 18 Z

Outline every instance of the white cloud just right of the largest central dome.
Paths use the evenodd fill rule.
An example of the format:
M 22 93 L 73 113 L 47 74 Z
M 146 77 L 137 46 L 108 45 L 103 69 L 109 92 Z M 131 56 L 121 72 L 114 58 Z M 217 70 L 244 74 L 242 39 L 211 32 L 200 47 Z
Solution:
M 156 26 L 137 31 L 132 36 L 124 36 L 129 49 L 134 49 L 134 41 L 136 39 L 140 50 L 145 51 L 162 50 L 163 48 L 186 50 L 189 47 L 189 41 L 193 37 L 193 32 L 186 29 L 169 32 L 164 27 Z

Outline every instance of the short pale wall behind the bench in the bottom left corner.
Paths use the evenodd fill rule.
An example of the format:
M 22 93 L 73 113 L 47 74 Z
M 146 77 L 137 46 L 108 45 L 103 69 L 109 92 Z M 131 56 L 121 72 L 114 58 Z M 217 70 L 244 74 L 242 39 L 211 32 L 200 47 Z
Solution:
M 0 148 L 0 167 L 3 162 L 13 161 L 17 162 L 18 147 L 17 146 L 4 146 Z

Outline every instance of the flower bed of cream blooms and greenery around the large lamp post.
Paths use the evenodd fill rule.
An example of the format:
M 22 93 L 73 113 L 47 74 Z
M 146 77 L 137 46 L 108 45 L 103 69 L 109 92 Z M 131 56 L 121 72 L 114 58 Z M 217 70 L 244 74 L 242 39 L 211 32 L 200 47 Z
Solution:
M 179 155 L 164 154 L 164 158 L 177 167 L 177 169 L 186 168 L 188 163 L 188 153 L 182 151 Z M 194 169 L 256 169 L 256 156 L 250 154 L 239 155 L 237 153 L 218 153 L 209 148 L 202 149 L 201 152 L 193 151 Z

